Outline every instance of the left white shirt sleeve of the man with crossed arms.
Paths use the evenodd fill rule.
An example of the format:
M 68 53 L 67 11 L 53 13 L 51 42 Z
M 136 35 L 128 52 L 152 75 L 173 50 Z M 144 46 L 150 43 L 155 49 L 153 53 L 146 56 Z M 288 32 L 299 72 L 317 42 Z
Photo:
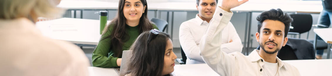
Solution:
M 183 22 L 180 25 L 179 40 L 183 52 L 185 52 L 188 58 L 204 62 L 199 54 L 200 47 L 196 45 L 194 36 L 190 32 L 189 24 L 187 22 Z

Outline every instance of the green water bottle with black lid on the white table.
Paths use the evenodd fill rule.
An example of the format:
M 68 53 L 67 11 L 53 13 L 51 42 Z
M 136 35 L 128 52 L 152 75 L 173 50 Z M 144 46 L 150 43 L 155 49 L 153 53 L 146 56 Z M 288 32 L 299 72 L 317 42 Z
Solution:
M 100 20 L 100 34 L 103 33 L 103 30 L 107 23 L 107 11 L 99 11 L 99 20 Z

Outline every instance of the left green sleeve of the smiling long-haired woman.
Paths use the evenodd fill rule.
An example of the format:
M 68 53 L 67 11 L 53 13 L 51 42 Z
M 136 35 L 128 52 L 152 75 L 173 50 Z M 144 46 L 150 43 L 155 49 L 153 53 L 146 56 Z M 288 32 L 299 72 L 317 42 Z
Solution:
M 108 31 L 106 31 L 105 34 L 102 35 L 101 39 L 106 38 L 111 35 L 112 33 L 112 25 L 110 25 L 111 28 L 109 28 Z M 92 54 L 92 65 L 97 67 L 118 67 L 117 65 L 117 59 L 118 57 L 109 56 L 109 53 L 111 51 L 111 38 L 106 38 L 103 40 L 100 40 L 95 51 Z

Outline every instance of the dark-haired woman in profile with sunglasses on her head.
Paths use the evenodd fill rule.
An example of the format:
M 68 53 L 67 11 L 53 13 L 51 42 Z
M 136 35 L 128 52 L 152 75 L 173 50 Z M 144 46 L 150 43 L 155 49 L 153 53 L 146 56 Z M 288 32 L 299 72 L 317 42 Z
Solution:
M 176 55 L 170 36 L 156 29 L 143 32 L 131 46 L 132 57 L 121 76 L 172 76 Z

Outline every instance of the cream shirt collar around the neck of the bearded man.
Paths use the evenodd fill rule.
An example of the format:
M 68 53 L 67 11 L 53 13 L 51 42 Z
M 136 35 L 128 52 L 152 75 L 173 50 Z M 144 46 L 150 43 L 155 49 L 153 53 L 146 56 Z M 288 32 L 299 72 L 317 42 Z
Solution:
M 257 62 L 257 61 L 261 61 L 261 59 L 263 59 L 261 56 L 258 55 L 258 52 L 259 52 L 259 50 L 255 49 L 254 51 L 252 51 L 249 54 L 251 62 Z M 286 66 L 284 65 L 284 62 L 280 58 L 278 58 L 278 57 L 277 57 L 277 62 L 278 62 L 278 65 L 279 65 L 278 67 L 284 67 L 286 69 L 286 71 L 288 70 L 286 68 Z

